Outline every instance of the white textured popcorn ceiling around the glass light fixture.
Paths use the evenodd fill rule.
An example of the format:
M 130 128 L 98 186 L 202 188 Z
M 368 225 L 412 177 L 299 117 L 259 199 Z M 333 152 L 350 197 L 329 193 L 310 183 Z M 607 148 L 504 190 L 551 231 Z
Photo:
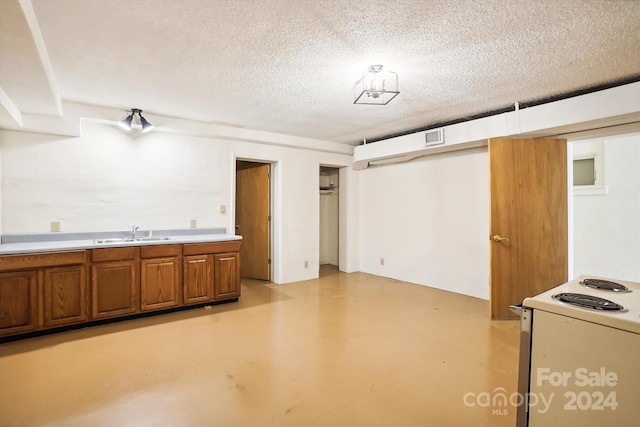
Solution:
M 152 122 L 157 114 L 356 145 L 640 79 L 640 1 L 30 4 L 54 96 L 142 108 Z M 38 86 L 46 67 L 24 58 L 34 48 L 23 43 L 19 8 L 0 0 L 0 86 L 22 112 L 43 114 L 52 109 Z M 400 95 L 354 105 L 353 83 L 377 63 L 399 74 Z

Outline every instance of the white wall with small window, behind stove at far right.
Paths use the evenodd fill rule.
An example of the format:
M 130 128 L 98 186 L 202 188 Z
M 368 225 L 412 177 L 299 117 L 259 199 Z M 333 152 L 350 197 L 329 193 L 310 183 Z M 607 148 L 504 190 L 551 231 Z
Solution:
M 598 152 L 606 186 L 573 197 L 574 276 L 640 281 L 640 133 L 573 141 L 573 152 Z

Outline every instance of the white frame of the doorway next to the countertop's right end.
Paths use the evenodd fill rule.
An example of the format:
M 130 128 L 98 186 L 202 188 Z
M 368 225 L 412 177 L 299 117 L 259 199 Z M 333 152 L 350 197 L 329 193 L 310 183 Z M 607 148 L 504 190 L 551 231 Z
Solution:
M 251 157 L 251 156 L 238 156 L 235 153 L 231 154 L 231 210 L 229 213 L 229 219 L 227 221 L 227 229 L 232 230 L 235 234 L 236 230 L 236 161 L 254 162 L 254 163 L 266 163 L 271 166 L 271 179 L 269 180 L 269 215 L 271 215 L 271 222 L 269 224 L 270 240 L 270 256 L 271 256 L 271 268 L 269 269 L 269 280 L 274 283 L 279 283 L 279 277 L 281 274 L 281 256 L 280 256 L 280 236 L 276 233 L 276 230 L 281 230 L 281 211 L 280 211 L 280 193 L 277 189 L 280 188 L 280 162 L 277 159 L 268 159 L 264 157 Z M 240 260 L 242 262 L 242 260 Z

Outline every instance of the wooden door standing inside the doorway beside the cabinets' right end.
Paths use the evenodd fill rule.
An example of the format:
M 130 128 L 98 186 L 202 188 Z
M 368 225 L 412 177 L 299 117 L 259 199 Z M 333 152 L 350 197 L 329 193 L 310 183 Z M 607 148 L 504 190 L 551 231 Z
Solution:
M 236 234 L 240 245 L 240 276 L 270 280 L 270 188 L 268 163 L 237 162 Z

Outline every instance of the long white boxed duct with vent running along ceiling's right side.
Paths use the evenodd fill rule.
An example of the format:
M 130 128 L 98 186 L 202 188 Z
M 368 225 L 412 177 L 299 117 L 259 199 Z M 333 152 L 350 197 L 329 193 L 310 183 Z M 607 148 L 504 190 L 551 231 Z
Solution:
M 409 161 L 417 157 L 484 146 L 489 138 L 518 136 L 539 138 L 578 132 L 607 134 L 608 129 L 627 126 L 640 129 L 640 82 L 566 98 L 443 128 L 355 147 L 354 168 Z M 434 131 L 441 139 L 429 142 Z

